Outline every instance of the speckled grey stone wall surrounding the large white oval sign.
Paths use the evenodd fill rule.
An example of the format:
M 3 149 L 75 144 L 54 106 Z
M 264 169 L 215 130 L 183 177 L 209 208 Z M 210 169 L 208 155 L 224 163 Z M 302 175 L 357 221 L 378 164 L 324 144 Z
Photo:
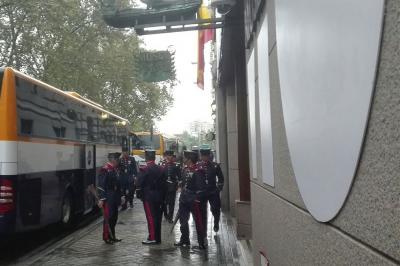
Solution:
M 275 0 L 278 1 L 278 0 Z M 318 223 L 298 191 L 283 120 L 274 1 L 269 23 L 275 186 L 252 179 L 255 265 L 391 265 L 400 263 L 400 1 L 387 0 L 368 129 L 354 184 L 339 215 Z

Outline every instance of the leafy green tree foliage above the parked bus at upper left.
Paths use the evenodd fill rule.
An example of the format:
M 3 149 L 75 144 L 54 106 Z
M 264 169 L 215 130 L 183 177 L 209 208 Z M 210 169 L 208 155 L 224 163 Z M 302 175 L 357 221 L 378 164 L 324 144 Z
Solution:
M 138 78 L 140 44 L 133 31 L 105 25 L 98 0 L 0 0 L 0 66 L 76 91 L 134 130 L 149 130 L 172 104 L 175 80 Z

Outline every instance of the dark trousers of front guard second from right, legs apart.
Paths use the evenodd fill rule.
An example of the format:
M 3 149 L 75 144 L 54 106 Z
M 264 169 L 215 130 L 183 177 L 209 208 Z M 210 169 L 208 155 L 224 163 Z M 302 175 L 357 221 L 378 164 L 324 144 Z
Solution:
M 179 204 L 179 223 L 181 225 L 181 242 L 190 243 L 190 232 L 189 232 L 189 218 L 192 213 L 194 223 L 196 225 L 197 241 L 199 245 L 204 245 L 206 238 L 206 228 L 203 219 L 202 209 L 206 202 L 194 201 L 192 204 Z

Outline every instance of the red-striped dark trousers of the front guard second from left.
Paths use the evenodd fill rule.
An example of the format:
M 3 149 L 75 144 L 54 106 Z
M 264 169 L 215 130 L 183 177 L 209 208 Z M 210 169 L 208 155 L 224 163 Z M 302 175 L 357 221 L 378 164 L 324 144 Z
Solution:
M 149 230 L 148 240 L 161 242 L 161 219 L 162 204 L 161 202 L 143 201 L 144 212 L 147 219 L 147 227 Z

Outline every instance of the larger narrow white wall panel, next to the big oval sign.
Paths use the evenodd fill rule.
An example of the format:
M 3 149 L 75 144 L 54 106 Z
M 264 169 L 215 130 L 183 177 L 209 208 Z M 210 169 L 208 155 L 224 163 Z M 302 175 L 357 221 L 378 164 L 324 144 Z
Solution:
M 261 175 L 263 182 L 274 186 L 272 152 L 271 96 L 269 86 L 268 20 L 264 18 L 257 40 L 258 90 L 260 106 Z

